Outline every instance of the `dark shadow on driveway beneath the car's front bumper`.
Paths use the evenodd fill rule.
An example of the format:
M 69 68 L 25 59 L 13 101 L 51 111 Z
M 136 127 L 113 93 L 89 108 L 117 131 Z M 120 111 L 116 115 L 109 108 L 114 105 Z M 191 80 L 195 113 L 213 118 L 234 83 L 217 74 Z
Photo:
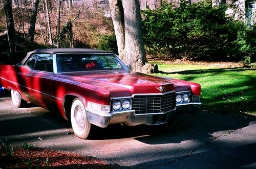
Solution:
M 208 141 L 216 137 L 215 132 L 238 130 L 251 122 L 256 123 L 255 116 L 199 111 L 197 114 L 176 115 L 170 126 L 113 125 L 107 128 L 96 128 L 91 132 L 89 139 L 134 138 L 146 144 L 180 143 L 184 140 Z

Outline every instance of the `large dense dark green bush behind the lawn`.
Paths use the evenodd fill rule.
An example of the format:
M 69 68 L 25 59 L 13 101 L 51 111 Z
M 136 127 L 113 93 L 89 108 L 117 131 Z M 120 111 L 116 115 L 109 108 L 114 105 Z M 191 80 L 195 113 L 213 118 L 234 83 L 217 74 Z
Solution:
M 147 54 L 172 59 L 241 59 L 234 41 L 244 24 L 226 17 L 225 10 L 226 6 L 212 8 L 211 2 L 199 2 L 142 11 Z

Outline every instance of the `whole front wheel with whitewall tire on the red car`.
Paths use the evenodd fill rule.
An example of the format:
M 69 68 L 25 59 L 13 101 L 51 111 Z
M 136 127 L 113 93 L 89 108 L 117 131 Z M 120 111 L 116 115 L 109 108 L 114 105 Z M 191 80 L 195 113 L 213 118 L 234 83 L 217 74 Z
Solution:
M 77 137 L 86 139 L 89 136 L 91 123 L 87 118 L 82 101 L 78 98 L 74 99 L 71 106 L 71 125 Z

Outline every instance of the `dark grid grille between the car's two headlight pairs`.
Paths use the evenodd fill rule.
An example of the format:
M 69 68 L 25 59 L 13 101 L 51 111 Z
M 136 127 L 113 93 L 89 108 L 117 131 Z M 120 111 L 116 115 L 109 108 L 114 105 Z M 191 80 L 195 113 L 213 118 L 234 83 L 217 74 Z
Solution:
M 132 109 L 135 114 L 163 113 L 175 109 L 175 93 L 165 95 L 135 95 Z

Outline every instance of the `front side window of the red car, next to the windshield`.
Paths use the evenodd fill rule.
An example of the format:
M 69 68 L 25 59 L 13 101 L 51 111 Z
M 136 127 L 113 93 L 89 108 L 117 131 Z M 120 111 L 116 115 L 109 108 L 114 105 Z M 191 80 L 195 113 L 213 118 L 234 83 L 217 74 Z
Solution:
M 53 72 L 53 57 L 50 54 L 38 54 L 34 70 Z

